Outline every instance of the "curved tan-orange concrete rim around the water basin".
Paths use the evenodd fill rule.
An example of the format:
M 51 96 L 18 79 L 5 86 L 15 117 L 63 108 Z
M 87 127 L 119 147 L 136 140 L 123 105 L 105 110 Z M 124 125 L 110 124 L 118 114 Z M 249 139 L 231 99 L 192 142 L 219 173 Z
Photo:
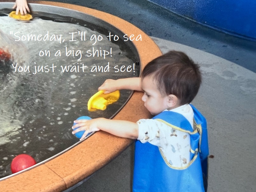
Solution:
M 0 0 L 0 2 L 13 1 Z M 133 44 L 140 56 L 142 69 L 148 62 L 162 54 L 149 36 L 119 17 L 73 4 L 47 1 L 28 1 L 28 3 L 46 4 L 80 11 L 110 23 L 124 34 L 141 34 L 142 41 L 133 41 Z M 141 101 L 141 96 L 142 93 L 135 91 L 128 103 L 113 119 L 136 122 L 141 118 L 150 118 L 149 112 L 144 108 Z M 133 140 L 99 131 L 53 160 L 1 181 L 0 191 L 63 191 L 101 169 L 132 142 Z

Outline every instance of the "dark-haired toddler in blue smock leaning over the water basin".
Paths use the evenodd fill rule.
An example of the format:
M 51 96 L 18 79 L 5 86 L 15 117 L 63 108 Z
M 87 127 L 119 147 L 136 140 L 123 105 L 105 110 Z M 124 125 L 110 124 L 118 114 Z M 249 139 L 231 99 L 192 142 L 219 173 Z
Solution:
M 141 78 L 106 80 L 99 90 L 143 91 L 152 119 L 138 122 L 97 118 L 78 120 L 72 133 L 103 130 L 138 139 L 133 191 L 205 191 L 208 141 L 205 118 L 190 103 L 201 84 L 199 66 L 185 53 L 170 51 L 148 63 Z

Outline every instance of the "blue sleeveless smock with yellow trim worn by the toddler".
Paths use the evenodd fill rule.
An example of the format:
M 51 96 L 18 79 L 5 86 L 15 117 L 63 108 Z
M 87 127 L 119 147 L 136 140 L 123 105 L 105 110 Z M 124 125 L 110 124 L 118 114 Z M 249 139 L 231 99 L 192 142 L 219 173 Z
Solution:
M 191 105 L 191 104 L 190 104 Z M 173 167 L 161 155 L 158 146 L 135 142 L 133 192 L 205 192 L 207 157 L 209 155 L 207 126 L 204 116 L 191 105 L 194 129 L 181 114 L 163 111 L 152 119 L 190 134 L 191 158 L 186 167 Z M 207 179 L 206 179 L 207 180 Z M 207 185 L 207 184 L 206 184 Z

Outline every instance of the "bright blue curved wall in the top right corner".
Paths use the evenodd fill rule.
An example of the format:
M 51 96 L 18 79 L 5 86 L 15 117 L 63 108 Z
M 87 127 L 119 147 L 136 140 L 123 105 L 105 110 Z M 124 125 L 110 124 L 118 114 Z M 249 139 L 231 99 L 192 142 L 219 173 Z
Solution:
M 256 39 L 256 0 L 151 0 L 219 30 Z

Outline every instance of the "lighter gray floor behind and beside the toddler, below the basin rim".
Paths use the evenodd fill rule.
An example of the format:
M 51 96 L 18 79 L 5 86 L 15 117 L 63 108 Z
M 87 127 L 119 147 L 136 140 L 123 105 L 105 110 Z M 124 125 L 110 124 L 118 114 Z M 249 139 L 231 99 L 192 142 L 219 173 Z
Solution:
M 163 53 L 184 51 L 201 66 L 202 87 L 192 102 L 208 123 L 208 192 L 255 191 L 256 74 L 218 56 L 152 37 Z M 133 146 L 72 192 L 131 191 Z

